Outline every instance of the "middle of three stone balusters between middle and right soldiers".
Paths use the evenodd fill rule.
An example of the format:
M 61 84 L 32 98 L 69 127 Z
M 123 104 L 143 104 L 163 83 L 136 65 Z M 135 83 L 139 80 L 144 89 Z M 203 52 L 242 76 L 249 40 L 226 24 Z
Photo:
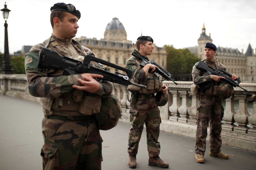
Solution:
M 178 91 L 182 97 L 181 106 L 178 108 L 178 112 L 180 114 L 180 118 L 178 118 L 178 122 L 187 123 L 189 119 L 188 108 L 189 108 L 189 93 L 188 91 L 179 90 Z

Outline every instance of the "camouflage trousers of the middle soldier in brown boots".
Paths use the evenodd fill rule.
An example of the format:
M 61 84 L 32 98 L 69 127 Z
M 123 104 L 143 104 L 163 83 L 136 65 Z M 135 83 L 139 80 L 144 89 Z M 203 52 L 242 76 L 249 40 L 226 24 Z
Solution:
M 138 153 L 140 137 L 145 123 L 148 156 L 159 156 L 160 143 L 158 137 L 161 118 L 156 98 L 138 98 L 135 105 L 131 103 L 130 122 L 132 127 L 129 132 L 128 153 L 131 155 Z

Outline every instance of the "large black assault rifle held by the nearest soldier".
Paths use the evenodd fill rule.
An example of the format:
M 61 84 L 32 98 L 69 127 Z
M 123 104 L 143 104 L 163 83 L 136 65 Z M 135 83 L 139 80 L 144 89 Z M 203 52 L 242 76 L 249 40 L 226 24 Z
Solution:
M 100 69 L 94 67 L 90 64 L 90 61 L 95 61 L 101 64 L 105 64 L 106 66 L 113 67 L 119 70 L 126 72 L 126 75 L 121 73 L 112 73 L 105 69 Z M 112 64 L 108 61 L 98 59 L 94 56 L 87 55 L 84 57 L 83 62 L 71 59 L 69 57 L 62 57 L 56 51 L 53 51 L 48 48 L 42 48 L 39 53 L 38 59 L 38 68 L 42 69 L 54 69 L 54 70 L 65 70 L 69 74 L 81 74 L 81 73 L 94 73 L 103 75 L 103 80 L 110 81 L 113 83 L 118 83 L 121 85 L 128 86 L 129 84 L 133 84 L 142 88 L 146 88 L 144 85 L 139 85 L 131 82 L 132 71 L 118 65 Z

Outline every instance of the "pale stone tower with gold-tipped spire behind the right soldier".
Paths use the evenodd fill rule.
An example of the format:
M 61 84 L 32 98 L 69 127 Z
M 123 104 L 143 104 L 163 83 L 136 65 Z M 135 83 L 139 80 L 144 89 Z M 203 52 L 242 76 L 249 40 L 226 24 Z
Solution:
M 200 37 L 197 40 L 197 43 L 198 43 L 197 55 L 202 60 L 205 59 L 205 57 L 204 57 L 204 47 L 205 47 L 205 44 L 208 43 L 208 42 L 212 43 L 211 33 L 209 34 L 209 36 L 206 35 L 205 26 L 203 24 L 202 33 L 200 34 Z

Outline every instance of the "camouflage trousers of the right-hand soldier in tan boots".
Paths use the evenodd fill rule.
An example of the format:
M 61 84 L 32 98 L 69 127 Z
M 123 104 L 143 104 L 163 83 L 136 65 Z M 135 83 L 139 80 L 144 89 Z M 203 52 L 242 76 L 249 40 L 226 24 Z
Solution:
M 210 122 L 209 149 L 211 152 L 220 152 L 221 119 L 224 115 L 222 99 L 218 96 L 200 95 L 197 107 L 197 131 L 195 137 L 195 153 L 204 155 L 206 150 L 207 127 Z

